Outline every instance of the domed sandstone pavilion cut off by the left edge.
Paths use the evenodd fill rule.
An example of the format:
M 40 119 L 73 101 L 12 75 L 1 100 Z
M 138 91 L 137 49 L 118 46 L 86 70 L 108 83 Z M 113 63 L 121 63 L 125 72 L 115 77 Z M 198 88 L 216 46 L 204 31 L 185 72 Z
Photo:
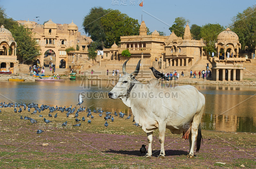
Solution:
M 16 56 L 17 43 L 12 37 L 12 33 L 0 27 L 0 71 L 16 73 L 19 62 Z

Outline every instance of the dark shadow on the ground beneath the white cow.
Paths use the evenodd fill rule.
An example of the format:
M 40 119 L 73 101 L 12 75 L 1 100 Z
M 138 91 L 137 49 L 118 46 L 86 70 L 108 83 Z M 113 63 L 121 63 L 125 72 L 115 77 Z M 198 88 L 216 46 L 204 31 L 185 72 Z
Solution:
M 103 153 L 116 153 L 116 154 L 125 154 L 131 156 L 141 156 L 140 150 L 106 150 L 102 151 Z M 160 150 L 152 150 L 152 156 L 157 157 L 160 154 Z M 165 150 L 165 156 L 180 156 L 188 155 L 188 151 L 183 150 Z

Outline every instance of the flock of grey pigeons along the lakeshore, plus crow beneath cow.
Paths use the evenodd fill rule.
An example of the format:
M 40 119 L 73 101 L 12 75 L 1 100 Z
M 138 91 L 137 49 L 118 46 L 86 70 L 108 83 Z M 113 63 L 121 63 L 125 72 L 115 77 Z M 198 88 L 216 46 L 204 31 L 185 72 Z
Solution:
M 77 104 L 77 105 L 79 105 L 80 106 L 80 104 L 82 104 L 84 101 L 82 101 L 82 96 L 81 96 L 81 94 L 79 94 L 78 95 L 78 101 L 79 101 L 79 103 Z M 83 107 L 79 107 L 77 110 L 76 110 L 76 107 L 73 107 L 72 108 L 72 105 L 71 106 L 69 106 L 69 107 L 67 107 L 66 108 L 66 106 L 64 106 L 64 107 L 58 107 L 58 106 L 56 106 L 56 107 L 53 107 L 53 106 L 49 106 L 49 105 L 44 105 L 44 104 L 42 104 L 41 106 L 39 106 L 38 104 L 34 104 L 34 103 L 31 103 L 31 104 L 25 104 L 25 103 L 21 103 L 21 104 L 19 104 L 19 103 L 9 103 L 9 104 L 7 104 L 7 103 L 0 103 L 0 108 L 6 108 L 6 107 L 13 107 L 14 109 L 13 109 L 13 111 L 14 111 L 14 113 L 17 113 L 17 112 L 19 112 L 19 113 L 21 113 L 22 112 L 22 108 L 23 108 L 23 110 L 27 110 L 28 112 L 31 112 L 31 114 L 33 114 L 33 115 L 38 115 L 38 113 L 40 113 L 41 111 L 49 111 L 49 113 L 48 113 L 48 117 L 44 117 L 43 118 L 43 120 L 44 120 L 44 122 L 46 123 L 46 125 L 48 124 L 48 123 L 51 123 L 52 121 L 51 121 L 51 119 L 53 119 L 53 117 L 52 117 L 52 113 L 54 113 L 55 115 L 54 115 L 54 119 L 55 118 L 57 118 L 58 117 L 58 113 L 56 112 L 56 111 L 58 111 L 58 112 L 62 112 L 62 113 L 65 113 L 66 114 L 66 116 L 67 116 L 67 118 L 69 117 L 69 115 L 70 114 L 73 114 L 73 113 L 75 113 L 75 116 L 74 116 L 74 118 L 76 118 L 75 119 L 75 121 L 76 121 L 76 123 L 79 123 L 79 124 L 75 124 L 75 125 L 73 125 L 74 127 L 79 127 L 79 126 L 81 126 L 81 121 L 82 122 L 85 122 L 85 118 L 84 117 L 82 117 L 82 119 L 80 120 L 80 119 L 78 119 L 78 116 L 79 116 L 79 113 L 80 112 L 84 112 L 84 111 L 86 111 L 87 112 L 87 118 L 90 118 L 88 121 L 87 121 L 87 124 L 91 124 L 92 123 L 92 120 L 94 119 L 94 116 L 92 115 L 92 112 L 93 113 L 99 113 L 99 116 L 100 116 L 100 118 L 102 118 L 102 115 L 103 114 L 105 114 L 105 117 L 104 118 L 102 118 L 102 119 L 104 119 L 104 121 L 105 121 L 105 123 L 104 123 L 104 126 L 105 127 L 108 127 L 108 119 L 109 120 L 111 120 L 112 122 L 114 122 L 114 116 L 116 117 L 116 116 L 118 116 L 118 114 L 117 114 L 117 112 L 115 111 L 115 113 L 114 113 L 114 116 L 112 115 L 111 116 L 111 112 L 109 112 L 109 111 L 106 111 L 106 112 L 104 112 L 103 110 L 95 110 L 95 109 L 93 109 L 93 111 L 91 111 L 91 109 L 90 108 L 87 108 L 87 110 L 86 110 L 86 108 L 85 108 L 85 106 Z M 34 110 L 34 111 L 33 111 Z M 56 113 L 55 113 L 55 112 Z M 64 111 L 66 111 L 66 112 L 64 112 Z M 1 110 L 0 110 L 0 112 L 1 112 Z M 119 112 L 119 118 L 124 118 L 124 113 L 121 111 L 121 112 Z M 91 116 L 91 117 L 90 117 Z M 39 117 L 43 117 L 43 115 L 39 115 Z M 73 117 L 73 116 L 72 116 Z M 47 118 L 47 119 L 46 119 Z M 131 115 L 129 115 L 126 119 L 130 119 L 131 118 Z M 27 117 L 27 116 L 24 116 L 24 117 L 22 117 L 22 115 L 20 116 L 20 119 L 23 119 L 23 120 L 30 120 L 30 122 L 32 123 L 32 124 L 36 124 L 38 121 L 37 120 L 35 120 L 35 119 L 32 119 L 32 118 L 30 118 L 30 117 Z M 125 120 L 126 120 L 125 119 Z M 134 119 L 133 119 L 133 121 L 134 121 Z M 68 121 L 65 121 L 65 122 L 63 122 L 63 124 L 61 125 L 62 127 L 66 127 L 68 125 Z M 135 124 L 133 124 L 133 125 L 135 125 L 136 127 L 138 127 L 139 126 L 139 124 L 138 123 L 135 123 Z M 44 132 L 44 130 L 40 130 L 40 129 L 38 129 L 37 131 L 36 131 L 36 133 L 37 134 L 41 134 L 41 133 L 43 133 Z M 145 147 L 144 147 L 145 148 Z M 144 151 L 144 149 L 143 149 L 143 152 L 142 151 L 140 151 L 141 153 L 145 153 L 145 151 Z

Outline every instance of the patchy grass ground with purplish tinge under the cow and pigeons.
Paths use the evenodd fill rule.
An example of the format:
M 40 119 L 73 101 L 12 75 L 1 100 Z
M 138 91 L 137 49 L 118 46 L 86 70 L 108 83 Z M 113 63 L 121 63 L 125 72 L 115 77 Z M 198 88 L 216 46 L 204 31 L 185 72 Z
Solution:
M 49 118 L 49 110 L 43 117 L 28 111 L 14 113 L 13 108 L 1 108 L 0 113 L 0 168 L 256 168 L 256 135 L 252 133 L 228 133 L 202 130 L 204 144 L 193 159 L 187 159 L 188 140 L 181 134 L 165 134 L 165 159 L 157 159 L 160 153 L 158 130 L 153 134 L 153 157 L 141 157 L 140 147 L 148 145 L 146 133 L 129 120 L 115 117 L 114 122 L 105 120 L 98 113 L 87 124 L 86 112 L 81 127 L 76 124 L 74 114 L 66 118 L 65 111 L 57 118 Z M 31 109 L 33 112 L 34 109 Z M 20 119 L 20 115 L 38 120 L 37 124 Z M 112 112 L 111 115 L 114 115 Z M 73 117 L 71 117 L 73 116 Z M 52 123 L 44 123 L 43 118 Z M 68 121 L 67 127 L 61 124 Z M 42 134 L 36 134 L 37 129 Z M 43 146 L 48 143 L 48 146 Z M 146 147 L 148 148 L 148 147 Z M 218 164 L 216 162 L 223 162 Z

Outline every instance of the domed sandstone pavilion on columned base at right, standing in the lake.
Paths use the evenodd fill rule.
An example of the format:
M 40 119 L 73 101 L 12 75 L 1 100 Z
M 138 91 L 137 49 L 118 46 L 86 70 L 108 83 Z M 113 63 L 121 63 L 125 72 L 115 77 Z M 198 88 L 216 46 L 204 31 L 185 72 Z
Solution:
M 241 43 L 236 33 L 229 28 L 220 32 L 215 48 L 218 57 L 209 58 L 212 63 L 212 79 L 214 81 L 243 80 L 243 63 L 246 59 L 238 56 Z

